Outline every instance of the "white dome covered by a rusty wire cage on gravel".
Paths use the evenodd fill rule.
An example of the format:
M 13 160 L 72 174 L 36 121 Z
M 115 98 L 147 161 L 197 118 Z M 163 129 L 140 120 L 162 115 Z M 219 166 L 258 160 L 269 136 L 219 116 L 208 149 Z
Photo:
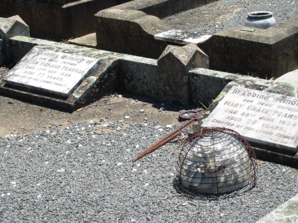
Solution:
M 195 193 L 229 193 L 256 184 L 256 156 L 227 128 L 203 128 L 186 139 L 176 163 L 179 184 Z

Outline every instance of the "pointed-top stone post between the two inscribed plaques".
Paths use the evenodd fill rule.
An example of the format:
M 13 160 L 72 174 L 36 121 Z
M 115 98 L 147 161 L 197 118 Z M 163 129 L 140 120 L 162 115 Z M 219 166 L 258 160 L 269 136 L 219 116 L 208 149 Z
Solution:
M 184 47 L 168 45 L 158 61 L 159 99 L 165 102 L 191 102 L 188 71 L 209 68 L 208 56 L 195 44 Z

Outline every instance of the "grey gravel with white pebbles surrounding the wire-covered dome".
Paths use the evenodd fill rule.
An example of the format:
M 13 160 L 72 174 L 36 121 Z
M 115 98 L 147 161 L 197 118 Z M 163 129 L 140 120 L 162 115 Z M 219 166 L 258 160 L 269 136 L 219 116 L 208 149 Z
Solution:
M 298 192 L 297 169 L 261 162 L 251 191 L 192 199 L 172 185 L 176 144 L 131 162 L 171 129 L 122 123 L 0 138 L 1 222 L 255 222 Z

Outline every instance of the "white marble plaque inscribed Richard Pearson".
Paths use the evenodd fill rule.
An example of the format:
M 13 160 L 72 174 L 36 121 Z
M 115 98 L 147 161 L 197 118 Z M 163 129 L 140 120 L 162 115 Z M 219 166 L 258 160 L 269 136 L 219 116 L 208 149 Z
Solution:
M 94 71 L 98 59 L 33 48 L 4 78 L 12 86 L 68 97 Z

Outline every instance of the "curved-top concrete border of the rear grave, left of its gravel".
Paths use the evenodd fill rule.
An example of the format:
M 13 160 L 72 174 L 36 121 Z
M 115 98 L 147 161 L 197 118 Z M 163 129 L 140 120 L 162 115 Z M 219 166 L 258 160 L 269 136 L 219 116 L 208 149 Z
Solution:
M 167 42 L 154 35 L 169 30 L 159 18 L 217 0 L 133 0 L 95 14 L 97 48 L 158 58 Z

